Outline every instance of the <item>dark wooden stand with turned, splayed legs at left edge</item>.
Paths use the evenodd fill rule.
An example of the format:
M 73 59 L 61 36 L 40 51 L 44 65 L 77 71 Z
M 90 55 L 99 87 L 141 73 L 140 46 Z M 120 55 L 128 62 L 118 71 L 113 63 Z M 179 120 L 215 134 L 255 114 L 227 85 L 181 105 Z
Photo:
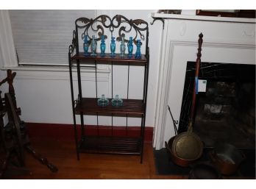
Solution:
M 9 76 L 13 76 L 13 74 L 11 74 L 11 71 L 7 71 L 7 74 L 7 79 L 11 81 L 8 82 L 10 87 L 10 84 L 13 83 L 13 78 Z M 7 79 L 4 80 L 8 81 Z M 57 172 L 58 169 L 55 165 L 49 163 L 46 157 L 43 157 L 32 149 L 29 135 L 26 131 L 26 124 L 24 121 L 21 121 L 19 117 L 21 109 L 16 107 L 13 85 L 9 89 L 11 89 L 9 91 L 11 93 L 5 93 L 4 99 L 1 99 L 0 96 L 0 143 L 2 143 L 1 146 L 3 147 L 0 148 L 0 154 L 4 154 L 4 156 L 0 156 L 0 178 L 30 173 L 30 171 L 25 168 L 24 150 L 32 154 L 40 163 L 46 165 L 51 172 Z M 8 117 L 8 124 L 6 126 L 4 126 L 3 121 L 5 114 L 7 114 Z

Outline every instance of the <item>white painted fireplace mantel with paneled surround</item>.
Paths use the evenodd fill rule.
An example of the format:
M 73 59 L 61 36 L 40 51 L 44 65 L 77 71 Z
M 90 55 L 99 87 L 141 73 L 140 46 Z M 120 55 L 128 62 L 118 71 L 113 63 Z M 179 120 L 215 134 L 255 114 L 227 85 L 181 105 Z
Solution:
M 204 35 L 202 62 L 255 65 L 255 18 L 158 13 L 152 17 L 164 21 L 154 129 L 154 148 L 161 149 L 174 136 L 167 104 L 179 120 L 186 65 L 196 61 L 199 34 Z

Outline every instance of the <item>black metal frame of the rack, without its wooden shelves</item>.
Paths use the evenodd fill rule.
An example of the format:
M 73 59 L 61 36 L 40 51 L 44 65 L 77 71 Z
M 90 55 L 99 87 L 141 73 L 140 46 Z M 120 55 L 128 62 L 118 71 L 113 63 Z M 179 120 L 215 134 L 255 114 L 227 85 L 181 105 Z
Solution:
M 80 111 L 77 113 L 76 107 L 79 105 L 82 107 L 82 85 L 81 85 L 81 73 L 80 73 L 80 60 L 86 60 L 87 58 L 85 56 L 82 56 L 79 58 L 79 38 L 78 38 L 78 31 L 79 29 L 85 29 L 84 32 L 82 32 L 82 39 L 85 38 L 85 35 L 88 35 L 89 43 L 92 40 L 92 38 L 89 35 L 89 31 L 96 33 L 96 40 L 100 40 L 101 36 L 104 35 L 104 38 L 107 39 L 107 35 L 104 33 L 104 29 L 109 29 L 111 32 L 111 36 L 113 36 L 113 31 L 118 29 L 118 37 L 116 40 L 121 41 L 121 37 L 125 38 L 126 33 L 130 33 L 133 31 L 135 33 L 135 37 L 133 37 L 133 43 L 137 43 L 136 39 L 140 38 L 141 40 L 144 40 L 146 42 L 146 54 L 145 56 L 145 63 L 144 66 L 144 83 L 143 83 L 143 113 L 141 115 L 141 151 L 139 154 L 141 154 L 141 163 L 143 160 L 143 140 L 144 140 L 144 131 L 145 131 L 145 117 L 146 117 L 146 99 L 147 99 L 147 88 L 148 88 L 148 78 L 149 78 L 149 26 L 146 21 L 143 21 L 141 19 L 135 19 L 135 20 L 129 20 L 125 18 L 123 15 L 115 15 L 112 19 L 108 15 L 99 15 L 95 19 L 89 19 L 89 18 L 78 18 L 75 21 L 76 30 L 73 32 L 73 40 L 72 44 L 69 46 L 68 51 L 68 60 L 69 60 L 69 73 L 70 73 L 70 82 L 71 82 L 71 102 L 72 102 L 72 110 L 73 110 L 73 119 L 74 119 L 74 135 L 75 135 L 75 142 L 77 146 L 77 159 L 79 160 L 79 152 L 83 151 L 81 150 L 81 145 L 85 139 L 85 128 L 84 128 L 84 117 L 83 115 L 86 115 L 87 113 L 83 113 Z M 146 33 L 146 38 L 145 38 Z M 127 43 L 129 39 L 125 39 L 124 42 Z M 76 54 L 74 54 L 74 49 L 76 49 Z M 74 54 L 74 56 L 73 56 Z M 75 56 L 78 56 L 77 58 L 74 58 Z M 96 77 L 96 99 L 97 99 L 97 59 L 96 57 L 93 59 L 92 57 L 89 58 L 90 60 L 94 61 L 95 68 L 95 77 Z M 101 58 L 101 61 L 104 60 L 104 58 Z M 142 60 L 129 60 L 128 58 L 124 58 L 124 60 L 121 60 L 118 58 L 118 60 L 113 59 L 105 59 L 105 63 L 110 63 L 112 66 L 112 74 L 113 74 L 113 64 L 115 63 L 127 63 L 128 65 L 128 74 L 129 74 L 129 65 L 130 63 L 135 62 L 143 62 Z M 132 62 L 131 62 L 132 61 Z M 73 65 L 77 65 L 77 82 L 78 82 L 78 99 L 74 99 L 74 85 L 73 85 L 73 75 L 72 75 L 72 67 Z M 113 76 L 112 76 L 112 98 L 113 98 Z M 127 84 L 127 99 L 129 98 L 129 75 L 128 75 L 128 84 Z M 80 115 L 81 119 L 81 138 L 82 140 L 79 142 L 78 140 L 78 132 L 77 132 L 77 122 L 76 122 L 76 114 Z M 99 129 L 98 124 L 98 115 L 99 113 L 96 112 L 97 115 L 97 129 Z M 110 113 L 112 116 L 112 134 L 113 134 L 113 113 Z M 127 116 L 127 118 L 130 116 L 128 113 L 122 115 Z M 128 126 L 127 126 L 128 127 Z M 89 151 L 91 152 L 91 151 Z M 116 154 L 116 153 L 114 153 Z M 127 154 L 127 153 L 121 153 L 121 154 Z M 128 153 L 132 154 L 132 153 Z

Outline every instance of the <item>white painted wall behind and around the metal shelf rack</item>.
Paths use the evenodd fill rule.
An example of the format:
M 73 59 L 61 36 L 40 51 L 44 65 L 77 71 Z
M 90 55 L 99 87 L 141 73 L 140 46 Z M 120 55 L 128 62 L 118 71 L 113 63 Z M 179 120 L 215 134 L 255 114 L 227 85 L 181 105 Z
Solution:
M 8 22 L 6 16 L 6 10 L 0 10 L 1 14 L 4 15 L 1 17 L 2 22 Z M 150 48 L 150 66 L 149 66 L 149 89 L 148 89 L 148 104 L 147 104 L 147 113 L 146 113 L 146 126 L 154 126 L 154 115 L 155 115 L 155 106 L 156 106 L 156 94 L 157 94 L 157 73 L 159 67 L 159 56 L 160 56 L 160 42 L 161 42 L 161 32 L 162 24 L 159 21 L 156 21 L 152 26 L 151 13 L 156 12 L 156 10 L 100 10 L 97 11 L 97 15 L 108 14 L 110 17 L 116 14 L 121 14 L 127 18 L 134 19 L 140 18 L 149 23 L 149 48 Z M 1 36 L 10 35 L 10 29 L 7 29 L 7 24 L 0 24 Z M 72 38 L 72 34 L 71 34 Z M 1 46 L 1 57 L 0 57 L 0 66 L 1 68 L 7 67 L 7 58 L 3 58 L 2 54 L 6 54 L 7 49 L 3 47 L 11 46 L 13 43 L 12 39 L 7 41 L 0 41 Z M 12 54 L 10 57 L 15 57 L 15 54 Z M 67 46 L 67 58 L 68 58 L 68 46 Z M 55 124 L 73 124 L 72 120 L 72 110 L 71 110 L 71 89 L 69 82 L 68 68 L 16 68 L 15 59 L 12 60 L 12 63 L 8 64 L 13 65 L 13 71 L 17 72 L 17 76 L 14 81 L 15 93 L 17 98 L 18 107 L 21 107 L 21 118 L 26 122 L 37 122 L 37 123 L 55 123 Z M 119 74 L 122 74 L 123 71 L 121 68 L 117 68 Z M 133 70 L 133 68 L 131 68 Z M 118 73 L 118 72 L 116 72 Z M 133 70 L 132 76 L 130 79 L 132 83 L 137 83 L 136 78 L 141 78 L 140 70 Z M 0 71 L 1 79 L 6 76 L 6 71 Z M 111 71 L 102 71 L 99 74 L 101 85 L 100 93 L 110 94 L 110 76 Z M 115 75 L 115 77 L 119 77 Z M 120 78 L 120 77 L 119 77 Z M 125 77 L 124 77 L 125 80 Z M 121 86 L 123 79 L 116 80 L 115 86 Z M 94 96 L 95 93 L 95 84 L 93 79 L 93 73 L 84 72 L 82 73 L 82 85 L 88 86 L 89 90 L 83 88 L 83 93 L 87 93 L 88 96 Z M 141 83 L 138 82 L 138 86 Z M 132 96 L 142 96 L 138 92 L 138 86 L 135 85 L 134 88 L 131 88 Z M 4 86 L 1 86 L 5 88 Z M 115 88 L 116 93 L 120 93 L 118 88 Z M 124 94 L 121 94 L 121 96 Z M 79 122 L 78 122 L 79 123 Z M 85 124 L 95 124 L 96 118 L 94 116 L 86 116 Z M 99 118 L 99 124 L 110 124 L 110 119 L 101 117 Z M 114 125 L 123 125 L 125 124 L 124 119 L 115 118 Z M 138 118 L 130 118 L 129 125 L 141 125 L 141 121 Z

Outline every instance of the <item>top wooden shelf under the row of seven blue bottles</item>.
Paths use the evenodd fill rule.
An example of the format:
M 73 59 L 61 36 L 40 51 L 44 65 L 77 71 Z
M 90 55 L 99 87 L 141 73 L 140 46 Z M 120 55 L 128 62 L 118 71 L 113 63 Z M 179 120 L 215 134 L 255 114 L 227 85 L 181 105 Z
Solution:
M 145 54 L 141 55 L 140 59 L 135 58 L 135 54 L 132 54 L 131 58 L 127 57 L 127 54 L 125 54 L 125 57 L 120 57 L 120 54 L 115 54 L 115 57 L 111 57 L 110 53 L 106 53 L 104 57 L 101 57 L 100 54 L 97 54 L 96 56 L 85 56 L 83 52 L 79 52 L 79 54 L 75 54 L 73 57 L 71 57 L 72 60 L 97 60 L 97 61 L 114 61 L 114 62 L 129 62 L 129 63 L 144 63 L 146 64 L 146 56 Z

